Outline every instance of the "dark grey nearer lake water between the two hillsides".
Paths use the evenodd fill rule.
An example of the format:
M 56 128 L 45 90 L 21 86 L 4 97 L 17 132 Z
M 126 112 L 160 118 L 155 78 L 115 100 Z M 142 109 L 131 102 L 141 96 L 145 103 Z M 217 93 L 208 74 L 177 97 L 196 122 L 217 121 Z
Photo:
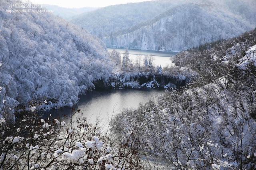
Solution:
M 164 92 L 164 90 L 155 88 L 95 90 L 79 96 L 80 100 L 76 109 L 81 109 L 90 123 L 96 123 L 96 120 L 100 119 L 101 125 L 107 125 L 112 113 L 115 115 L 126 108 L 137 108 L 140 103 L 156 99 L 157 94 Z M 65 114 L 67 115 L 65 121 L 68 122 L 72 109 L 64 107 L 42 111 L 41 113 L 44 118 L 50 114 L 54 117 L 58 117 L 58 115 L 63 117 Z

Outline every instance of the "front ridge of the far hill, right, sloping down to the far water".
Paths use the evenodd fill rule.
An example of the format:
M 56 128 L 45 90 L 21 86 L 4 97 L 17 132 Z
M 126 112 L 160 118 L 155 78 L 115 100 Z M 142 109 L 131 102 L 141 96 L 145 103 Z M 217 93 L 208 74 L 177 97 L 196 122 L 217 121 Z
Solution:
M 255 26 L 247 16 L 221 5 L 190 3 L 171 8 L 126 33 L 106 36 L 103 41 L 107 47 L 181 51 L 238 36 Z

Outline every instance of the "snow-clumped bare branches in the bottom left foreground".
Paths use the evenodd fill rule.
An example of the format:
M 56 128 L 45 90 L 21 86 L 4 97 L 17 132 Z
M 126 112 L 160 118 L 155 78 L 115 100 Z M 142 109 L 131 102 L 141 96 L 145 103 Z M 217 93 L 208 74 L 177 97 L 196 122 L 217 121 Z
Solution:
M 32 113 L 15 127 L 0 119 L 1 170 L 142 169 L 139 147 L 132 135 L 120 144 L 116 142 L 119 137 L 102 133 L 85 117 L 66 123 L 51 117 L 37 119 Z

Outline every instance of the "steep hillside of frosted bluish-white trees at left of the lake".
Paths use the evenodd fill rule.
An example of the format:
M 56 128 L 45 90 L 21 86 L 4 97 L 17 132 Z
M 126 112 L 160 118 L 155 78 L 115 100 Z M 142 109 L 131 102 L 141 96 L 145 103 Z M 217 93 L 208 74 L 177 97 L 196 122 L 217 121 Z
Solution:
M 99 38 L 50 13 L 6 12 L 10 3 L 18 2 L 0 6 L 0 116 L 17 104 L 72 106 L 95 80 L 108 79 L 109 54 Z

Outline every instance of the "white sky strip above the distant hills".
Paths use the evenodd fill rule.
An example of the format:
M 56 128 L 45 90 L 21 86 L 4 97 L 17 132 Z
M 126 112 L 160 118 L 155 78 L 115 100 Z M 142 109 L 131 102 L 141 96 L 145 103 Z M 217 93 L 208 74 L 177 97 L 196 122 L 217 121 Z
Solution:
M 23 0 L 26 1 L 26 0 Z M 104 7 L 116 4 L 126 4 L 129 2 L 142 2 L 149 0 L 30 0 L 34 4 L 50 4 L 66 8 L 82 7 Z

